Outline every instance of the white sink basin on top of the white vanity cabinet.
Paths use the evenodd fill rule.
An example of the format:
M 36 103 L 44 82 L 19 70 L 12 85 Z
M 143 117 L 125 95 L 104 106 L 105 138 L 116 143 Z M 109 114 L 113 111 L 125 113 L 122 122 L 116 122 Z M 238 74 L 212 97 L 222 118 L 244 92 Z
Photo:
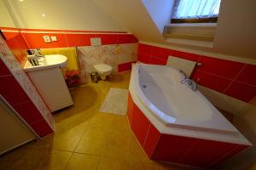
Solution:
M 49 68 L 61 67 L 64 68 L 67 65 L 67 57 L 61 54 L 45 55 L 45 57 L 38 59 L 39 65 L 33 66 L 28 60 L 24 65 L 24 71 L 39 71 Z

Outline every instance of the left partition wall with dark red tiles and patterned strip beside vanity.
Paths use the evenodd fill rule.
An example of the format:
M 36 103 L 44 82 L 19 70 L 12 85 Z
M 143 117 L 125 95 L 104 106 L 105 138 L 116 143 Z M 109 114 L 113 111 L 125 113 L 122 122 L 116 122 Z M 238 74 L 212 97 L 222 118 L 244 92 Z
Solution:
M 0 95 L 13 107 L 21 120 L 43 138 L 53 132 L 54 119 L 36 88 L 0 37 Z

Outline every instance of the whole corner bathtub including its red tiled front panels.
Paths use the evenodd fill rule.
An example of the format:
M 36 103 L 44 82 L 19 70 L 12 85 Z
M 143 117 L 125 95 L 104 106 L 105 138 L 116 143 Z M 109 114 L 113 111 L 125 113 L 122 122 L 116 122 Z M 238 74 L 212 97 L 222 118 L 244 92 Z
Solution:
M 132 66 L 127 115 L 131 130 L 148 156 L 212 167 L 250 146 L 199 90 L 180 82 L 183 78 L 180 71 L 165 65 Z M 204 150 L 204 154 L 198 156 L 198 150 Z M 212 155 L 225 157 L 217 160 Z M 194 157 L 201 161 L 191 161 Z

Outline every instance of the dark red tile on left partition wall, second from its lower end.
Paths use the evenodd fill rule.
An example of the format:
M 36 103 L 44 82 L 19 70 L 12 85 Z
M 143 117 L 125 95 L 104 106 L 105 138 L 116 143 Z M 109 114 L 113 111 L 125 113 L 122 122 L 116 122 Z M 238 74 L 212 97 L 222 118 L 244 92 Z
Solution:
M 32 103 L 32 101 L 27 101 L 25 103 L 21 103 L 20 105 L 15 105 L 14 109 L 27 123 L 37 122 L 40 119 L 43 119 L 43 116 Z

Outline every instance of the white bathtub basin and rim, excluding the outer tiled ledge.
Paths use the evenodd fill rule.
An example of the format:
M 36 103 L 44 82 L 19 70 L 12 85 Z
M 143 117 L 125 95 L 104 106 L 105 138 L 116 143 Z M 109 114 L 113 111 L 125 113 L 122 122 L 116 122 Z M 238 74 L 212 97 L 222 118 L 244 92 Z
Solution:
M 237 133 L 229 121 L 200 93 L 188 88 L 183 74 L 171 67 L 135 67 L 136 92 L 143 105 L 170 127 Z

